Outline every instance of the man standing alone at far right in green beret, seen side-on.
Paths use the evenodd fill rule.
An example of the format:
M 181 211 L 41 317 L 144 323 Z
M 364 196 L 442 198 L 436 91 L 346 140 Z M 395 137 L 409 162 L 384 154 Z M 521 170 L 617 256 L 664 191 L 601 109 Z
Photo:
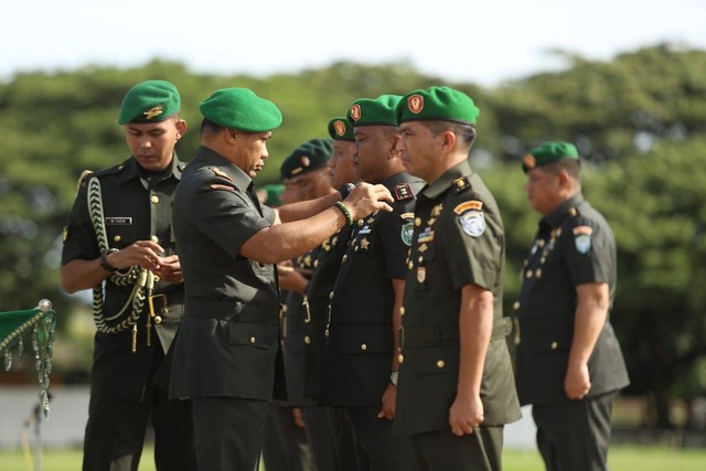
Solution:
M 609 312 L 616 239 L 584 200 L 576 147 L 546 142 L 523 159 L 539 229 L 522 271 L 517 392 L 532 404 L 549 471 L 606 470 L 610 416 L 629 378 Z

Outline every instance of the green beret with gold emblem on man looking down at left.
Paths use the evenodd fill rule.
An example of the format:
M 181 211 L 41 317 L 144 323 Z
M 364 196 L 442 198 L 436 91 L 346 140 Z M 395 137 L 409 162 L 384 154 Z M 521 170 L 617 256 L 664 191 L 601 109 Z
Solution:
M 137 84 L 125 95 L 118 115 L 118 125 L 128 122 L 160 122 L 174 116 L 181 108 L 179 90 L 165 81 Z

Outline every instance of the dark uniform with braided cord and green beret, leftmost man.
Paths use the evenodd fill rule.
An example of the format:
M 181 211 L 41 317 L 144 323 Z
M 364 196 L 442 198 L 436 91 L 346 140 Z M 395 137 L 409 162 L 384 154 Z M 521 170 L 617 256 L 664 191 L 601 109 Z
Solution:
M 120 124 L 154 106 L 164 111 L 156 122 L 179 110 L 173 85 L 148 81 L 136 86 L 126 95 Z M 160 174 L 129 158 L 85 175 L 66 226 L 62 264 L 96 259 L 101 251 L 137 240 L 153 240 L 164 248 L 164 256 L 174 255 L 171 208 L 183 169 L 174 154 Z M 98 331 L 84 441 L 86 470 L 137 469 L 150 417 L 157 468 L 195 468 L 191 405 L 167 400 L 170 346 L 183 314 L 184 286 L 158 280 L 150 288 L 152 281 L 151 274 L 132 267 L 106 279 L 105 296 L 101 287 L 94 289 Z

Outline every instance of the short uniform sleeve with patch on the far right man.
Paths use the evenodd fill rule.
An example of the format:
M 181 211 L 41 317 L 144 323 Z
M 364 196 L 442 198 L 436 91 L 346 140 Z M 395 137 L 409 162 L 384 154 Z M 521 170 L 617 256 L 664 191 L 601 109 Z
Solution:
M 577 218 L 565 227 L 560 247 L 574 286 L 610 282 L 614 264 L 611 234 L 586 218 Z

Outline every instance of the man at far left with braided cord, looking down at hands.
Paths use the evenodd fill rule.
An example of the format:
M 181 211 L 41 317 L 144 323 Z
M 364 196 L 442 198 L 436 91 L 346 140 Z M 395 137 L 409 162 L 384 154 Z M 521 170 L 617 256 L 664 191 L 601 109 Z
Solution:
M 150 419 L 157 469 L 195 469 L 191 405 L 167 395 L 184 302 L 171 212 L 184 169 L 174 152 L 186 130 L 179 109 L 169 82 L 130 89 L 118 122 L 132 154 L 83 175 L 68 218 L 62 288 L 94 289 L 97 325 L 84 470 L 137 470 Z

